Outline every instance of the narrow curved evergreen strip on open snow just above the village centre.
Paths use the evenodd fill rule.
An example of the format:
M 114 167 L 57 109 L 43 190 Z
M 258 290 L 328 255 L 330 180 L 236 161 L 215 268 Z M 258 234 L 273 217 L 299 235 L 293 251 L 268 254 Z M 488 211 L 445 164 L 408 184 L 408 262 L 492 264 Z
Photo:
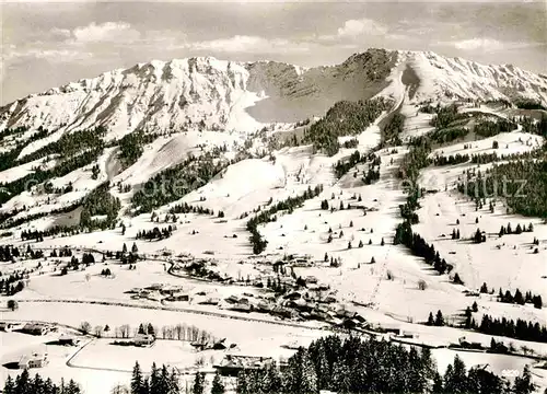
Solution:
M 311 186 L 307 186 L 307 189 L 302 195 L 299 195 L 296 197 L 289 197 L 283 201 L 279 201 L 276 205 L 269 207 L 266 210 L 260 211 L 260 213 L 249 219 L 247 221 L 246 229 L 248 232 L 251 232 L 249 241 L 251 244 L 253 245 L 253 253 L 260 254 L 268 245 L 268 241 L 266 241 L 258 231 L 259 224 L 268 223 L 270 221 L 276 221 L 277 217 L 275 217 L 275 215 L 279 211 L 287 210 L 289 213 L 292 213 L 292 211 L 295 208 L 301 207 L 305 200 L 317 197 L 322 192 L 323 192 L 323 185 L 317 185 L 313 189 Z

